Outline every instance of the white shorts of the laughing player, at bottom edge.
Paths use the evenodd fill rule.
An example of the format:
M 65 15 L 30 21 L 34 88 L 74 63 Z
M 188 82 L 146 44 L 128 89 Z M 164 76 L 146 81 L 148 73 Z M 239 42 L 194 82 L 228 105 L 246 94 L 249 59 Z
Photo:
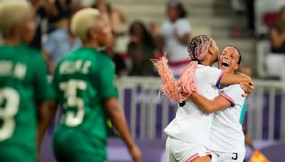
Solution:
M 212 162 L 243 162 L 245 153 L 224 153 L 211 151 Z

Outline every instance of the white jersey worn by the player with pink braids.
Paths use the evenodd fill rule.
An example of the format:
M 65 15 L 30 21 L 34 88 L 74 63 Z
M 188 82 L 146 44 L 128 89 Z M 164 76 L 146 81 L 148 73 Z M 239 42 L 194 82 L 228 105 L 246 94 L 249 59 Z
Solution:
M 209 66 L 198 65 L 194 75 L 197 92 L 214 99 L 219 95 L 219 86 L 223 71 Z M 184 107 L 179 107 L 176 117 L 165 128 L 165 134 L 175 139 L 192 144 L 209 146 L 209 132 L 212 126 L 213 114 L 204 114 L 193 102 L 187 101 Z

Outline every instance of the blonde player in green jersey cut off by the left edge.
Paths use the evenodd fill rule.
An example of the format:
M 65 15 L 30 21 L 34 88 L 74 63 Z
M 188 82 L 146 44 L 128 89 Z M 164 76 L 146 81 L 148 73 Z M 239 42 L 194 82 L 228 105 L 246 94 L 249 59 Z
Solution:
M 0 4 L 1 161 L 35 161 L 36 141 L 39 146 L 51 119 L 45 63 L 41 53 L 26 45 L 35 31 L 32 11 L 24 0 Z

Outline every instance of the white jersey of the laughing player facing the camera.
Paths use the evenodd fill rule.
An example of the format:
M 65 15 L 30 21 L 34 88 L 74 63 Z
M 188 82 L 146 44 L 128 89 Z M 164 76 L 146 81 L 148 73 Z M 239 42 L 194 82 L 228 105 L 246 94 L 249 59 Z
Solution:
M 219 94 L 231 102 L 231 107 L 215 112 L 210 133 L 212 151 L 244 153 L 244 132 L 239 118 L 245 97 L 240 85 L 229 85 L 219 90 Z

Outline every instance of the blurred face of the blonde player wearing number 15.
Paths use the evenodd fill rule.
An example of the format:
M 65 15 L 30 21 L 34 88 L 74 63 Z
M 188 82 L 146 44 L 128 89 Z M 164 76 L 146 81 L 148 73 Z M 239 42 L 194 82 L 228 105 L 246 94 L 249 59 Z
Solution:
M 110 43 L 112 33 L 106 16 L 100 16 L 98 18 L 97 35 L 97 41 L 100 47 L 105 47 Z

